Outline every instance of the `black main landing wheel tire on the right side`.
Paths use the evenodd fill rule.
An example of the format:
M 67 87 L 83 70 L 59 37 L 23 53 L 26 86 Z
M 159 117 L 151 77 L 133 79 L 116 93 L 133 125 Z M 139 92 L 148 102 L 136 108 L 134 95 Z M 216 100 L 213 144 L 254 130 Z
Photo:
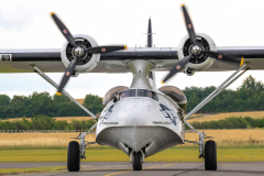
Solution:
M 206 170 L 217 170 L 217 144 L 215 141 L 206 142 L 205 169 Z

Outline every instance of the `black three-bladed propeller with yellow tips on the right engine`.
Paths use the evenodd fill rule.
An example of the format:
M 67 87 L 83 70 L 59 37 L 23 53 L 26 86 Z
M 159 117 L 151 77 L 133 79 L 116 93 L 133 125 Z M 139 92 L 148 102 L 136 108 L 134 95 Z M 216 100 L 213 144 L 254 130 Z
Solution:
M 241 61 L 230 57 L 228 55 L 218 53 L 218 52 L 212 52 L 212 51 L 207 51 L 207 50 L 202 50 L 199 45 L 197 45 L 196 42 L 196 33 L 195 33 L 195 28 L 191 23 L 191 20 L 189 18 L 189 14 L 185 8 L 185 4 L 182 4 L 183 8 L 183 13 L 184 13 L 184 18 L 185 18 L 185 24 L 186 24 L 186 29 L 188 31 L 190 41 L 193 42 L 194 46 L 191 48 L 191 54 L 186 56 L 184 59 L 182 59 L 179 63 L 177 63 L 168 73 L 168 75 L 162 80 L 162 84 L 164 84 L 165 81 L 167 81 L 170 77 L 173 77 L 175 74 L 177 74 L 178 72 L 180 72 L 190 61 L 193 55 L 199 55 L 199 54 L 205 54 L 209 57 L 213 57 L 218 61 L 223 61 L 223 62 L 229 62 L 229 63 L 240 63 L 240 66 L 242 66 L 244 64 L 244 58 L 242 57 Z

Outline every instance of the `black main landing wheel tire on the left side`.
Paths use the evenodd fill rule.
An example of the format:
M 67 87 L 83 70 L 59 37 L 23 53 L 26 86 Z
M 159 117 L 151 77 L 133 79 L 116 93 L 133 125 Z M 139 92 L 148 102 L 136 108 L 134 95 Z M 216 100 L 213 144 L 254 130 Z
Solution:
M 68 172 L 79 172 L 80 169 L 80 152 L 79 152 L 79 143 L 76 141 L 72 141 L 68 144 L 67 151 L 67 168 Z

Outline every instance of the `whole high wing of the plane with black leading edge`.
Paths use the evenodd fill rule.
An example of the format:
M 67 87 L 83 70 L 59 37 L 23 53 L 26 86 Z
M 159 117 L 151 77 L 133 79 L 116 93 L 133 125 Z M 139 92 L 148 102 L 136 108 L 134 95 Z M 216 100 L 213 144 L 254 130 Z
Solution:
M 250 69 L 264 69 L 264 47 L 218 47 L 221 54 L 232 57 L 244 57 Z M 156 70 L 169 70 L 179 62 L 176 47 L 142 47 L 105 53 L 91 73 L 128 73 L 127 64 L 133 59 L 147 59 L 155 64 Z M 65 65 L 61 50 L 0 50 L 0 73 L 32 73 L 37 66 L 45 73 L 64 73 Z M 234 70 L 239 66 L 213 61 L 206 72 Z

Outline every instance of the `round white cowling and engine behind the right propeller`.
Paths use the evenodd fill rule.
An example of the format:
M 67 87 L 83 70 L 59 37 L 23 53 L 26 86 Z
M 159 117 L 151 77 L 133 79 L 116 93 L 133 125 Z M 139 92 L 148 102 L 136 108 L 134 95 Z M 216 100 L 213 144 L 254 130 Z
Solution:
M 212 38 L 204 33 L 196 33 L 196 43 L 200 46 L 201 51 L 208 50 L 217 52 L 217 46 Z M 189 35 L 186 35 L 179 43 L 178 46 L 178 58 L 179 61 L 184 59 L 186 56 L 191 54 L 191 48 L 194 44 L 189 38 Z M 205 70 L 213 64 L 215 58 L 208 57 L 205 54 L 193 55 L 189 63 L 186 65 L 189 69 L 194 70 Z

